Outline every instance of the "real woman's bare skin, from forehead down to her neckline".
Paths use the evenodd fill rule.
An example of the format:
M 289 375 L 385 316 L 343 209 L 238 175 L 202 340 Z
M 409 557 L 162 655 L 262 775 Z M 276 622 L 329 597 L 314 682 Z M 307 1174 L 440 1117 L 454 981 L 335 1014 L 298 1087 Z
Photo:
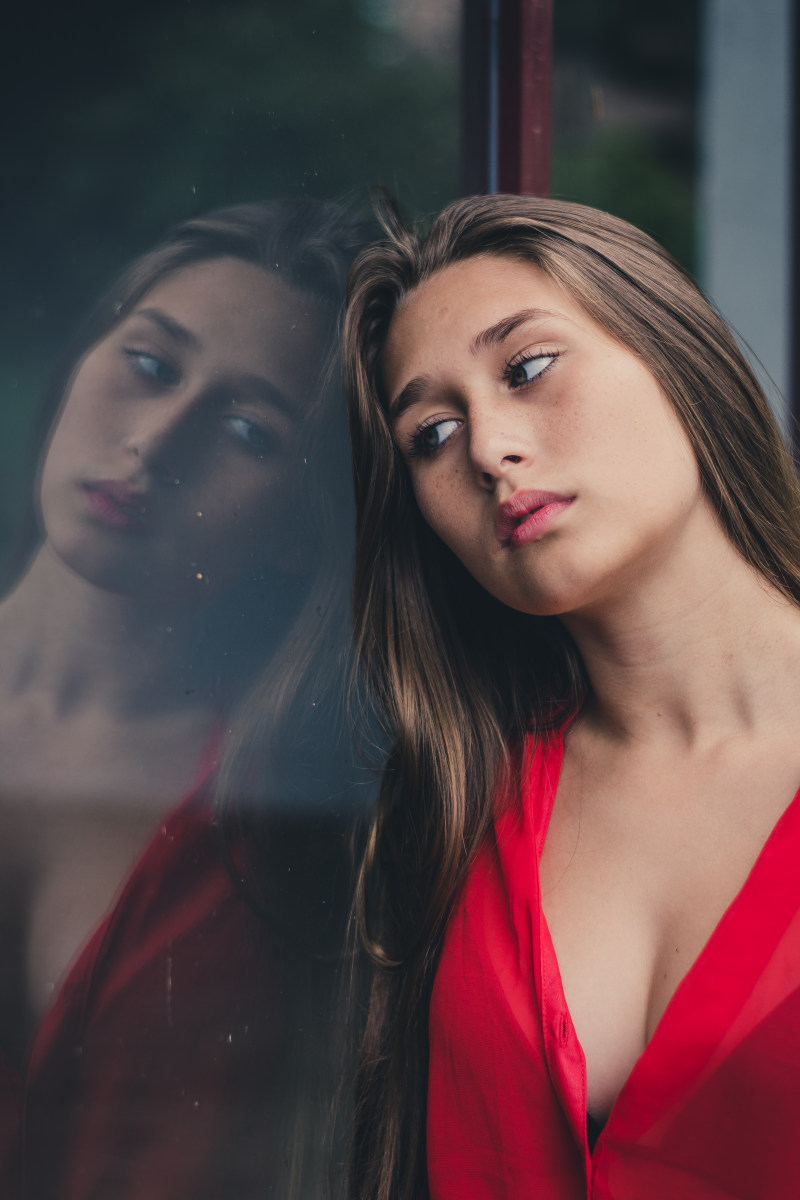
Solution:
M 796 791 L 800 613 L 728 542 L 646 366 L 535 266 L 416 288 L 384 385 L 431 527 L 498 599 L 559 616 L 588 670 L 541 878 L 604 1117 Z M 498 506 L 530 490 L 570 503 L 504 545 Z

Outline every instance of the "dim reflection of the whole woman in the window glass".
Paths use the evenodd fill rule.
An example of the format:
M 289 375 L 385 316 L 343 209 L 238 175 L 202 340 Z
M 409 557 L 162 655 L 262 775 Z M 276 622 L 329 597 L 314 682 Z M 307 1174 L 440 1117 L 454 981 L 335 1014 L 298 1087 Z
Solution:
M 354 250 L 312 202 L 190 221 L 101 302 L 62 389 L 0 605 L 4 1195 L 18 1170 L 26 1195 L 148 1200 L 272 1177 L 289 983 L 245 833 L 259 791 L 335 786 L 306 718 L 331 721 L 311 667 L 336 653 Z

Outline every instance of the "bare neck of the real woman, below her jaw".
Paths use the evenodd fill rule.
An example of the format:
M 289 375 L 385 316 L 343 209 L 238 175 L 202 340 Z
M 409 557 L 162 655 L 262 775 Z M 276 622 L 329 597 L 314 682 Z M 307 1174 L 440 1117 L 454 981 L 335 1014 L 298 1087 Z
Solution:
M 718 538 L 564 623 L 590 682 L 585 719 L 621 742 L 699 749 L 794 720 L 800 610 Z

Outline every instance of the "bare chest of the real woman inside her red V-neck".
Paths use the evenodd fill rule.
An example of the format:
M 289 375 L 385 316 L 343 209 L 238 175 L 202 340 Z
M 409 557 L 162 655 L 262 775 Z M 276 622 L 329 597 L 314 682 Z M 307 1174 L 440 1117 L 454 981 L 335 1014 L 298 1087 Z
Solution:
M 610 1110 L 792 800 L 792 750 L 693 764 L 632 755 L 603 769 L 567 748 L 540 877 L 595 1115 Z

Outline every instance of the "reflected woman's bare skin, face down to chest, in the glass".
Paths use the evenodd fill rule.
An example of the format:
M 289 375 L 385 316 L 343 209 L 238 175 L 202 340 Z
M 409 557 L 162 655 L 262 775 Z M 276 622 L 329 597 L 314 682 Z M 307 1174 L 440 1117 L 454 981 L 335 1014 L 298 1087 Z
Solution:
M 43 540 L 0 604 L 0 890 L 6 913 L 26 901 L 31 1015 L 196 778 L 218 721 L 207 612 L 253 570 L 302 569 L 319 336 L 302 293 L 222 258 L 167 276 L 76 367 Z M 145 533 L 98 518 L 97 480 L 146 498 Z

